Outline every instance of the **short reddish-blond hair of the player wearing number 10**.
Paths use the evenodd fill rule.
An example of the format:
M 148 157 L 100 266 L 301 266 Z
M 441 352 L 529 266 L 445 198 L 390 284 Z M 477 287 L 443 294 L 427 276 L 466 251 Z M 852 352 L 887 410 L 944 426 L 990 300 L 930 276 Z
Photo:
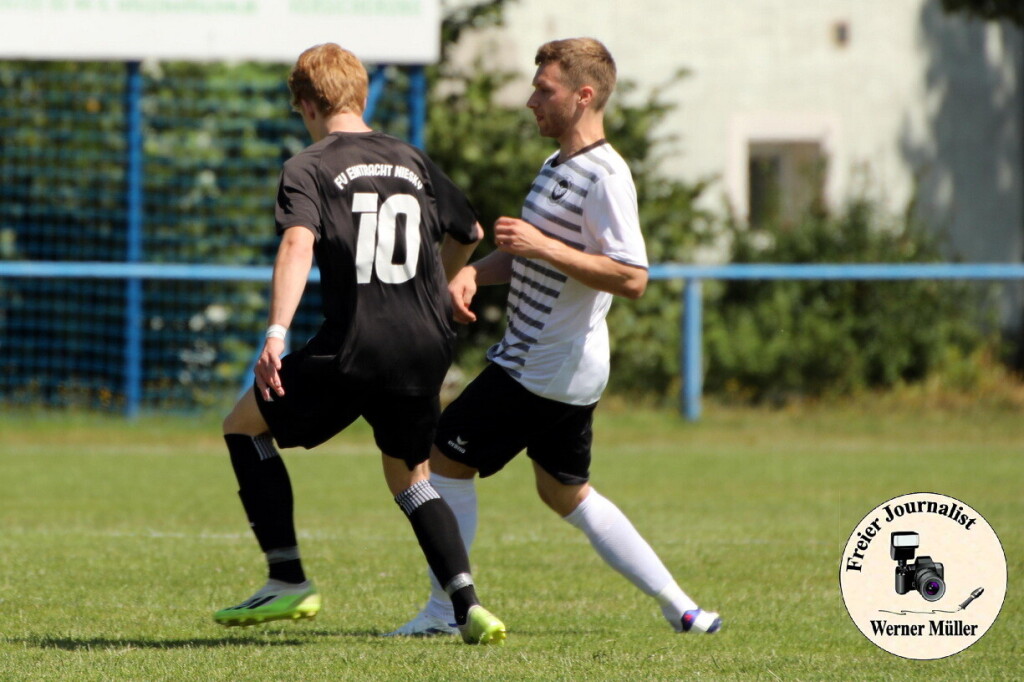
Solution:
M 323 116 L 362 114 L 369 81 L 358 57 L 340 45 L 324 43 L 299 55 L 288 76 L 288 89 L 296 109 L 305 99 Z

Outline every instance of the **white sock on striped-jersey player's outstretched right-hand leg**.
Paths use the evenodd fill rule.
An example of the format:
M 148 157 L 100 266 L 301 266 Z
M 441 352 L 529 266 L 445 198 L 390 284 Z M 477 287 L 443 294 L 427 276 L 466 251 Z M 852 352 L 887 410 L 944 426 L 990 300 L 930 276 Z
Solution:
M 665 617 L 674 626 L 684 611 L 697 607 L 626 514 L 597 491 L 590 488 L 587 498 L 564 518 L 584 531 L 605 563 L 644 594 L 654 597 Z

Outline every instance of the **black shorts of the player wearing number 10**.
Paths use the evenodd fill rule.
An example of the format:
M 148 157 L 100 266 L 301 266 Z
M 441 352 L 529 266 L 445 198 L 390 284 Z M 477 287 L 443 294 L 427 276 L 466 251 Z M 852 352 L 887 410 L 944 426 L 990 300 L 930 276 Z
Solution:
M 410 469 L 430 457 L 440 402 L 433 395 L 374 390 L 338 369 L 333 355 L 307 348 L 281 358 L 285 395 L 264 400 L 254 386 L 256 404 L 281 447 L 315 447 L 359 417 L 374 430 L 381 452 L 404 460 Z

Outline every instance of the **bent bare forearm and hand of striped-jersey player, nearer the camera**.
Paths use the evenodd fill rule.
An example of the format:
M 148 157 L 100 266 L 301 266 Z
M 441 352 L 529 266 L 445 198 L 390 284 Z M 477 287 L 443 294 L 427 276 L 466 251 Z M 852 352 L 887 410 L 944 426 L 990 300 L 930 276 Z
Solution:
M 577 251 L 519 218 L 499 218 L 495 241 L 502 253 L 546 260 L 591 289 L 637 299 L 647 288 L 645 268 Z

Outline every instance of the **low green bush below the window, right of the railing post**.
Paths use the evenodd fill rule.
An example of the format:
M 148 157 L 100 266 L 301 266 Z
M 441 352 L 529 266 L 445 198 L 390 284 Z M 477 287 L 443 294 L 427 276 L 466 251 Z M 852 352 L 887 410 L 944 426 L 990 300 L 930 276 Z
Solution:
M 839 215 L 726 226 L 735 263 L 939 262 L 938 240 L 865 201 Z M 984 345 L 990 288 L 939 281 L 730 281 L 706 293 L 705 386 L 753 401 L 928 377 Z

